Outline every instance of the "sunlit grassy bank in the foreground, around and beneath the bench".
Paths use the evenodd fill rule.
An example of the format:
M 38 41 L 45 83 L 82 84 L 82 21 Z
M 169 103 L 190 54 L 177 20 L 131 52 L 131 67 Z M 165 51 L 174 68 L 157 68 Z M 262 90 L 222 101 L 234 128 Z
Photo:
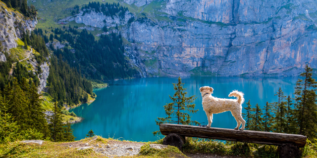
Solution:
M 140 144 L 130 141 L 119 141 L 112 138 L 103 138 L 96 136 L 94 138 L 85 138 L 74 142 L 51 142 L 45 141 L 42 145 L 26 144 L 20 141 L 0 144 L 1 158 L 106 158 L 103 151 L 116 150 L 111 146 L 111 142 L 116 144 L 133 146 Z M 226 144 L 209 140 L 188 138 L 183 150 L 168 146 L 163 149 L 151 148 L 150 144 L 161 144 L 162 139 L 156 142 L 143 143 L 137 155 L 130 157 L 141 158 L 187 158 L 187 156 L 204 154 L 204 157 L 217 158 L 277 158 L 277 147 L 269 145 L 260 145 L 254 143 L 228 142 Z M 88 149 L 78 150 L 82 147 Z M 109 147 L 110 146 L 110 147 Z M 112 148 L 113 147 L 113 148 Z M 116 148 L 118 146 L 115 146 Z M 106 149 L 106 150 L 105 150 Z M 302 158 L 316 158 L 317 144 L 307 142 L 305 148 L 302 148 Z

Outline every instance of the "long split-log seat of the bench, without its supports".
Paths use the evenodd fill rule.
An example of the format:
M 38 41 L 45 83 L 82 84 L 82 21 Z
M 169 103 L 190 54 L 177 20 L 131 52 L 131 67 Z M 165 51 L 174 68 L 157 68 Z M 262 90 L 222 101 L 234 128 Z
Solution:
M 210 138 L 268 145 L 296 144 L 300 148 L 305 146 L 307 139 L 306 136 L 298 134 L 260 132 L 252 130 L 240 131 L 226 128 L 207 128 L 182 124 L 160 124 L 159 130 L 163 135 L 175 133 L 185 137 Z

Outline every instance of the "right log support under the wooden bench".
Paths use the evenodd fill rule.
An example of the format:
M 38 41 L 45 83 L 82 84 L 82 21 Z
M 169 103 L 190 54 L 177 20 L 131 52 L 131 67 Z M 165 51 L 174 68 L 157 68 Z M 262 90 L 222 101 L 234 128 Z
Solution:
M 301 152 L 297 145 L 283 144 L 278 146 L 277 153 L 279 158 L 300 158 Z

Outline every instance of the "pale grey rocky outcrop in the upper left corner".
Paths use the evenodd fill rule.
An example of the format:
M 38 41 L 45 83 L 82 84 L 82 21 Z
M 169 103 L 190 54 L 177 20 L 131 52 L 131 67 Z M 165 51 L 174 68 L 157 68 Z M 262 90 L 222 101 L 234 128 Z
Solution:
M 0 2 L 0 41 L 3 51 L 9 52 L 9 49 L 17 47 L 16 40 L 22 38 L 23 31 L 31 32 L 36 24 L 36 17 L 26 19 L 21 13 L 7 8 Z M 0 52 L 0 61 L 6 61 L 3 52 Z

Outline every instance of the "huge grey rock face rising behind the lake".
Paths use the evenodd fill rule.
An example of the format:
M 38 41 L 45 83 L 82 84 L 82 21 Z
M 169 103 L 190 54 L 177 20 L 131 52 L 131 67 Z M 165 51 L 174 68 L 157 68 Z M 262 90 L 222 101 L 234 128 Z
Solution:
M 314 0 L 125 2 L 142 11 L 112 25 L 122 25 L 126 55 L 142 77 L 297 76 L 306 64 L 317 71 Z M 75 21 L 96 15 L 85 16 Z M 85 24 L 101 27 L 93 21 L 102 18 Z

